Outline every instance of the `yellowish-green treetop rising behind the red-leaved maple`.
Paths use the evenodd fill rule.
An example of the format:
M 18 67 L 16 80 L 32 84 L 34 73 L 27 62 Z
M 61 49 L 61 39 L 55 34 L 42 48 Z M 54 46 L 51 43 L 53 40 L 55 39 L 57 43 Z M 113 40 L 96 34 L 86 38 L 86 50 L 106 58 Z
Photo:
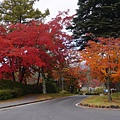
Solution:
M 27 19 L 45 18 L 49 15 L 49 10 L 41 13 L 34 9 L 33 5 L 39 0 L 4 0 L 0 3 L 0 20 L 3 22 L 23 23 Z

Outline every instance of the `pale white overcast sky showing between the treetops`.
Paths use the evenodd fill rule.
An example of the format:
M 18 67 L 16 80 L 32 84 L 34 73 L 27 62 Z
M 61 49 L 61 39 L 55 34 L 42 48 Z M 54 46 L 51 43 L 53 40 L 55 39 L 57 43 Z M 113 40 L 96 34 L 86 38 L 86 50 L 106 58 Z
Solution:
M 3 0 L 0 0 L 3 1 Z M 44 12 L 47 8 L 50 10 L 50 18 L 54 18 L 58 11 L 67 11 L 70 9 L 70 15 L 76 13 L 78 0 L 40 0 L 36 2 L 35 8 L 39 8 L 40 11 Z

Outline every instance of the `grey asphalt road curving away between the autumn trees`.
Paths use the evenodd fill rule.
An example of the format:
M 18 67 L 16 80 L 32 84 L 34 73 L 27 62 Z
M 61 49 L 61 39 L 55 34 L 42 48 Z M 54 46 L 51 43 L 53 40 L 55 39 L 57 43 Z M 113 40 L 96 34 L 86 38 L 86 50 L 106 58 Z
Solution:
M 120 110 L 75 106 L 86 96 L 72 96 L 0 110 L 0 120 L 120 120 Z

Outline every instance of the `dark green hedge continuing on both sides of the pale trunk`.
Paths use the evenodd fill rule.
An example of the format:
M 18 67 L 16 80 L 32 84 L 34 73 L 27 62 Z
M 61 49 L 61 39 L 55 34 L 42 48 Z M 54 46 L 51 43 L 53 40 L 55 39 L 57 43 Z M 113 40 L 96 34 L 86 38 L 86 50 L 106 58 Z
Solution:
M 57 93 L 59 88 L 55 82 L 46 82 L 47 93 Z M 7 100 L 11 98 L 17 98 L 27 94 L 40 94 L 42 93 L 42 84 L 37 85 L 25 85 L 20 82 L 14 82 L 11 80 L 0 80 L 0 100 Z

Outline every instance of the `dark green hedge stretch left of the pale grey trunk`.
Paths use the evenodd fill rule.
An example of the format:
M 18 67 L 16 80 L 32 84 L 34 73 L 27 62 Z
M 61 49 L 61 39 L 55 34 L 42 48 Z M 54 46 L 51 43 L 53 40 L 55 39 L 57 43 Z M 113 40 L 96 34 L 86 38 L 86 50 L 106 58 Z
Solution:
M 10 80 L 1 80 L 0 81 L 0 90 L 1 90 L 1 99 L 0 100 L 16 98 L 16 97 L 20 97 L 23 95 L 39 92 L 35 85 L 25 85 L 23 83 L 14 82 L 14 81 L 10 81 Z

